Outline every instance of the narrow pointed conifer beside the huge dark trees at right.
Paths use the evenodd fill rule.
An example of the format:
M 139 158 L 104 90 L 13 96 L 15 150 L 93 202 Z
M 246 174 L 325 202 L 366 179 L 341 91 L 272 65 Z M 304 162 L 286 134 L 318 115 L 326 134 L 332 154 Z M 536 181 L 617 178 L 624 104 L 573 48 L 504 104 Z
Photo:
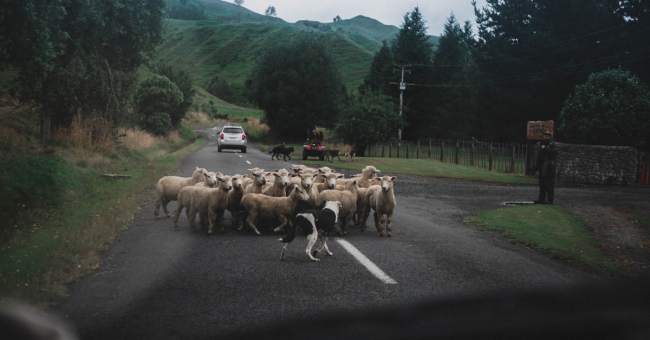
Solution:
M 469 21 L 463 28 L 452 14 L 445 24 L 433 56 L 432 93 L 437 124 L 431 129 L 440 138 L 469 139 L 476 122 L 480 71 L 474 61 L 474 36 Z

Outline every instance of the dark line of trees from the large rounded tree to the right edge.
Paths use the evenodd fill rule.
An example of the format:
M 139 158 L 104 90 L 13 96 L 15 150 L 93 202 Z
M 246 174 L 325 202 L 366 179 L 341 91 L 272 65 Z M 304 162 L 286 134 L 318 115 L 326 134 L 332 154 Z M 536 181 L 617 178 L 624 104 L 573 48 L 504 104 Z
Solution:
M 284 136 L 330 127 L 358 149 L 396 140 L 399 128 L 403 139 L 524 142 L 526 123 L 536 120 L 554 120 L 556 138 L 563 141 L 648 146 L 650 5 L 634 0 L 473 5 L 478 35 L 469 21 L 461 24 L 452 14 L 437 46 L 426 35 L 419 8 L 406 13 L 356 91 L 340 90 L 335 61 L 310 66 L 329 60 L 310 56 L 318 49 L 331 56 L 327 38 L 310 37 L 312 45 L 297 50 L 291 42 L 269 48 L 247 83 L 249 99 Z M 300 45 L 301 39 L 306 38 L 294 41 Z M 316 70 L 326 74 L 309 73 Z M 315 93 L 327 98 L 327 105 L 312 99 Z

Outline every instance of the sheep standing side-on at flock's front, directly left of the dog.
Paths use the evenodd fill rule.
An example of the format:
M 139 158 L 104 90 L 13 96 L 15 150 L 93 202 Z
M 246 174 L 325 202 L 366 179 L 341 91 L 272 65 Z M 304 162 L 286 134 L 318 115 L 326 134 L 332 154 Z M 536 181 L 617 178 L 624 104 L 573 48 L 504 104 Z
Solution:
M 309 195 L 304 189 L 296 187 L 287 197 L 270 197 L 263 194 L 249 194 L 241 200 L 241 206 L 246 210 L 248 225 L 257 235 L 261 235 L 253 224 L 256 218 L 260 220 L 278 219 L 280 225 L 274 229 L 279 232 L 284 229 L 293 216 L 299 201 L 309 200 Z

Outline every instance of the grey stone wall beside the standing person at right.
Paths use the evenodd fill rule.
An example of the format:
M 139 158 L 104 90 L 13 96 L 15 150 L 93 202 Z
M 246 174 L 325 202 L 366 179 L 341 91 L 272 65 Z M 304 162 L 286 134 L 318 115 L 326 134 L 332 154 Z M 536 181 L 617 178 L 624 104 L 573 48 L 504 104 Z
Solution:
M 557 143 L 557 179 L 568 183 L 635 185 L 638 151 L 631 146 Z

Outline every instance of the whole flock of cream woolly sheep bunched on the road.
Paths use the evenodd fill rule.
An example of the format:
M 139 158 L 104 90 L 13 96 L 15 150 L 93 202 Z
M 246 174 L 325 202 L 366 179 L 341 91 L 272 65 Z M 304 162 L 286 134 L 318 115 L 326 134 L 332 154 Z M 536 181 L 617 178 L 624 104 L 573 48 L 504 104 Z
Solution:
M 192 177 L 165 176 L 158 181 L 154 216 L 159 217 L 160 206 L 170 216 L 167 204 L 178 201 L 174 211 L 174 227 L 183 209 L 190 226 L 195 227 L 196 214 L 201 226 L 211 234 L 215 224 L 224 231 L 224 212 L 230 211 L 232 226 L 242 230 L 249 227 L 260 235 L 262 225 L 274 232 L 282 231 L 295 216 L 305 209 L 321 209 L 325 201 L 341 203 L 335 231 L 347 235 L 348 224 L 354 221 L 361 230 L 366 228 L 370 210 L 374 211 L 379 236 L 391 236 L 391 222 L 395 210 L 393 181 L 396 177 L 377 177 L 374 166 L 365 167 L 361 174 L 345 179 L 328 167 L 319 169 L 293 165 L 285 169 L 265 172 L 249 169 L 251 176 L 226 176 L 196 168 Z M 386 217 L 384 217 L 384 215 Z M 279 224 L 278 224 L 279 223 Z

